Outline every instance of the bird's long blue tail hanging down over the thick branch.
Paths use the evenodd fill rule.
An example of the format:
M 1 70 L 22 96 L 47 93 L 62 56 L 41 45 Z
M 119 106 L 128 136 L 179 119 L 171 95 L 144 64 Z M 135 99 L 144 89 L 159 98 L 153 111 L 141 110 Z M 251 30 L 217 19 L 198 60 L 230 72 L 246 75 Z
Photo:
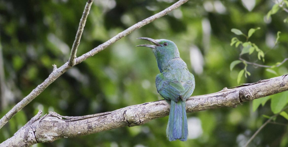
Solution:
M 186 141 L 188 136 L 185 101 L 171 101 L 166 135 L 169 141 Z

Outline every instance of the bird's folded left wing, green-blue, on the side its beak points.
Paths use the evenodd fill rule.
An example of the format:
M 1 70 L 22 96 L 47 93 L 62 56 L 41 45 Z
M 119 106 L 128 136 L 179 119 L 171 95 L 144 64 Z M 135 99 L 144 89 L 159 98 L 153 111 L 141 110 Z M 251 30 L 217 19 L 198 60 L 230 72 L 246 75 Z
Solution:
M 185 88 L 180 82 L 166 80 L 162 73 L 156 76 L 156 88 L 166 101 L 178 101 L 185 92 Z

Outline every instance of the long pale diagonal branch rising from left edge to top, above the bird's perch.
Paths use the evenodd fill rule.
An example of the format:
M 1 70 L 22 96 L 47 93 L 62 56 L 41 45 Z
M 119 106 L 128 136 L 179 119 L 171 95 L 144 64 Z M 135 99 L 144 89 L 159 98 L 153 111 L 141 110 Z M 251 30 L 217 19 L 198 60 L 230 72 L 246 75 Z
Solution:
M 130 28 L 124 30 L 123 32 L 121 32 L 121 33 L 117 34 L 116 36 L 114 36 L 113 38 L 109 39 L 105 43 L 97 46 L 96 48 L 94 48 L 92 50 L 90 50 L 86 54 L 83 54 L 82 56 L 79 56 L 78 58 L 76 58 L 75 59 L 76 64 L 79 64 L 79 63 L 83 62 L 84 60 L 86 60 L 87 58 L 97 54 L 101 50 L 104 50 L 105 48 L 107 48 L 112 43 L 114 43 L 114 42 L 118 41 L 119 39 L 121 39 L 122 37 L 130 34 L 132 31 L 134 31 L 138 28 L 141 28 L 141 27 L 145 26 L 146 24 L 154 21 L 155 19 L 158 19 L 158 18 L 168 14 L 170 11 L 178 8 L 180 5 L 182 5 L 183 3 L 186 3 L 187 1 L 188 0 L 179 0 L 176 3 L 174 3 L 173 5 L 171 5 L 170 7 L 164 9 L 163 11 L 134 24 Z M 17 103 L 7 114 L 5 114 L 0 119 L 0 128 L 2 128 L 9 121 L 9 119 L 11 119 L 11 117 L 13 117 L 18 111 L 20 111 L 23 107 L 25 107 L 28 103 L 30 103 L 30 101 L 32 101 L 33 99 L 35 99 L 35 97 L 37 97 L 40 93 L 42 93 L 44 91 L 44 89 L 46 89 L 46 87 L 48 87 L 52 82 L 54 82 L 60 75 L 62 75 L 64 72 L 66 72 L 69 68 L 71 68 L 73 66 L 69 66 L 68 62 L 66 62 L 64 65 L 62 65 L 59 68 L 53 68 L 53 72 L 48 76 L 47 79 L 45 79 L 45 81 L 43 83 L 41 83 L 35 89 L 33 89 L 33 91 L 31 91 L 31 93 L 29 93 L 29 95 L 24 97 L 24 99 L 22 99 L 19 103 Z

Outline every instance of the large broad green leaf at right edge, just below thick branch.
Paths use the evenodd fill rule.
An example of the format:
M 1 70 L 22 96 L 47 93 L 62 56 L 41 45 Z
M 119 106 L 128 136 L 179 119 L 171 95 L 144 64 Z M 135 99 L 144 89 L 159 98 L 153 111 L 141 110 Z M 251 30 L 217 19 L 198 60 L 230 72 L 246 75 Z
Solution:
M 287 92 L 283 92 L 273 95 L 270 106 L 274 114 L 279 113 L 288 103 L 287 94 L 288 94 Z

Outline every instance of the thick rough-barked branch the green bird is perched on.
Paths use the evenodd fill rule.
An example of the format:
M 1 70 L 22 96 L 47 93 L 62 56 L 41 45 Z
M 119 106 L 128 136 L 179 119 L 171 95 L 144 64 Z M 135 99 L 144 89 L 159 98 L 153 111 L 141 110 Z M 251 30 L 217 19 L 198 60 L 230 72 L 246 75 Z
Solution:
M 287 91 L 287 84 L 288 76 L 283 75 L 232 89 L 224 88 L 217 93 L 190 97 L 186 101 L 186 111 L 235 107 L 244 101 Z M 152 119 L 167 116 L 169 109 L 169 104 L 160 100 L 80 117 L 67 117 L 50 112 L 41 118 L 39 115 L 33 117 L 32 121 L 23 126 L 13 137 L 2 142 L 0 146 L 30 146 L 39 142 L 53 142 L 60 138 L 93 134 L 113 128 L 143 125 Z

